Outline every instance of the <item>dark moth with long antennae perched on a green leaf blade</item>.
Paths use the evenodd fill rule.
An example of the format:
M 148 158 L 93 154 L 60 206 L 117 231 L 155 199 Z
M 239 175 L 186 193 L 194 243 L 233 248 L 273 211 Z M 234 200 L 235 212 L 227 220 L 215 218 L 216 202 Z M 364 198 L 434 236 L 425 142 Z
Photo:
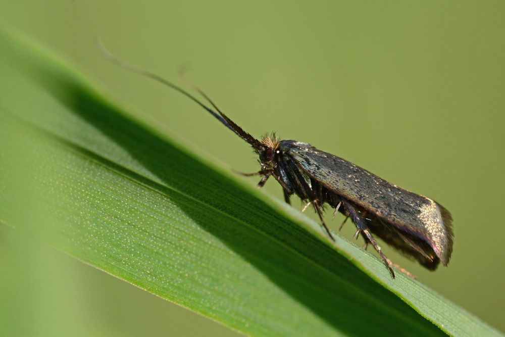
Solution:
M 184 94 L 249 143 L 259 156 L 261 168 L 255 173 L 242 174 L 261 176 L 259 187 L 273 177 L 282 186 L 288 204 L 291 196 L 296 195 L 306 202 L 304 210 L 308 206 L 314 208 L 330 239 L 335 240 L 324 221 L 323 205 L 329 205 L 334 215 L 340 212 L 345 219 L 350 218 L 357 227 L 355 236 L 361 234 L 366 246 L 371 244 L 374 247 L 392 278 L 395 277 L 392 263 L 382 252 L 374 235 L 427 269 L 436 269 L 440 262 L 447 266 L 452 253 L 452 217 L 436 201 L 393 185 L 308 143 L 280 140 L 274 133 L 257 139 L 221 112 L 197 87 L 192 85 L 214 109 L 172 82 L 117 59 L 101 44 L 99 49 L 116 65 Z

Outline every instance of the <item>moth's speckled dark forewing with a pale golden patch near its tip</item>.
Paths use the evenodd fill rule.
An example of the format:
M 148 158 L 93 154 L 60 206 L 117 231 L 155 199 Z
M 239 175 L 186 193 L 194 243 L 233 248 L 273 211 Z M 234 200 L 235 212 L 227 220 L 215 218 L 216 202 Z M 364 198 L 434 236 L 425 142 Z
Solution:
M 283 155 L 306 174 L 384 222 L 425 240 L 447 265 L 452 251 L 452 219 L 442 206 L 308 143 L 283 140 L 280 144 Z

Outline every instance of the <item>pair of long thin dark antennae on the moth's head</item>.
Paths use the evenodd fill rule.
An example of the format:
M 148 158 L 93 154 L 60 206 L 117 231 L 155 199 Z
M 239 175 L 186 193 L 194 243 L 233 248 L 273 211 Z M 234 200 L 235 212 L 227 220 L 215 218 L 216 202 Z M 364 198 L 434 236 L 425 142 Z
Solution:
M 251 136 L 249 133 L 245 132 L 240 126 L 238 126 L 231 119 L 229 119 L 228 116 L 226 116 L 225 114 L 223 114 L 219 110 L 219 108 L 214 104 L 214 102 L 212 102 L 209 99 L 209 97 L 203 91 L 201 91 L 199 88 L 197 88 L 196 86 L 194 86 L 194 85 L 191 84 L 191 87 L 193 87 L 199 94 L 201 94 L 204 97 L 204 99 L 207 100 L 219 112 L 219 114 L 216 113 L 211 108 L 209 108 L 208 106 L 206 106 L 205 104 L 201 103 L 192 94 L 190 94 L 186 90 L 182 89 L 181 87 L 175 85 L 174 83 L 166 80 L 165 78 L 163 78 L 163 77 L 161 77 L 161 76 L 159 76 L 159 75 L 157 75 L 155 73 L 151 73 L 151 72 L 146 71 L 144 69 L 135 67 L 135 66 L 133 66 L 131 64 L 128 64 L 128 63 L 126 63 L 126 62 L 118 59 L 116 56 L 114 56 L 111 52 L 109 52 L 106 49 L 106 47 L 103 45 L 102 41 L 100 41 L 99 39 L 96 39 L 96 47 L 97 47 L 98 51 L 100 53 L 102 53 L 102 55 L 107 60 L 109 60 L 110 62 L 114 63 L 115 65 L 117 65 L 117 66 L 119 66 L 121 68 L 124 68 L 126 70 L 131 71 L 131 72 L 134 72 L 136 74 L 148 77 L 150 79 L 154 79 L 157 82 L 160 82 L 160 83 L 162 83 L 162 84 L 164 84 L 164 85 L 166 85 L 166 86 L 168 86 L 168 87 L 170 87 L 170 88 L 172 88 L 172 89 L 174 89 L 176 91 L 179 91 L 180 93 L 182 93 L 183 95 L 185 95 L 187 98 L 189 98 L 191 101 L 195 102 L 200 107 L 202 107 L 205 110 L 207 110 L 211 115 L 213 115 L 214 117 L 216 117 L 227 128 L 229 128 L 230 130 L 232 130 L 233 132 L 235 132 L 240 138 L 242 138 L 245 141 L 247 141 L 254 148 L 258 149 L 259 147 L 261 147 L 261 143 L 260 143 L 259 140 L 257 140 L 253 136 Z

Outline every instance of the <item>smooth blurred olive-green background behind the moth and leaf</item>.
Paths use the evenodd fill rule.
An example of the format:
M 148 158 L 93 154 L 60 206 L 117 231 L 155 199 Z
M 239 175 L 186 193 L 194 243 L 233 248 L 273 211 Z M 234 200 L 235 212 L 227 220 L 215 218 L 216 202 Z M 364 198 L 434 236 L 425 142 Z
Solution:
M 138 118 L 224 167 L 253 172 L 258 164 L 242 140 L 187 99 L 107 63 L 95 49 L 96 36 L 124 60 L 168 78 L 177 79 L 178 68 L 189 64 L 192 81 L 254 135 L 278 131 L 310 142 L 437 200 L 454 218 L 447 269 L 429 272 L 384 251 L 501 330 L 504 12 L 498 1 L 0 3 L 0 21 L 62 55 Z M 265 190 L 282 198 L 274 181 Z M 333 221 L 334 230 L 340 221 Z M 346 225 L 341 234 L 354 232 Z M 19 250 L 11 236 L 2 237 L 2 260 L 10 261 L 4 272 L 17 264 L 6 258 Z M 24 272 L 42 277 L 37 287 L 46 291 L 28 282 L 27 292 L 10 296 L 29 298 L 34 307 L 25 317 L 51 326 L 47 331 L 86 326 L 84 335 L 235 334 L 40 249 L 40 262 Z

